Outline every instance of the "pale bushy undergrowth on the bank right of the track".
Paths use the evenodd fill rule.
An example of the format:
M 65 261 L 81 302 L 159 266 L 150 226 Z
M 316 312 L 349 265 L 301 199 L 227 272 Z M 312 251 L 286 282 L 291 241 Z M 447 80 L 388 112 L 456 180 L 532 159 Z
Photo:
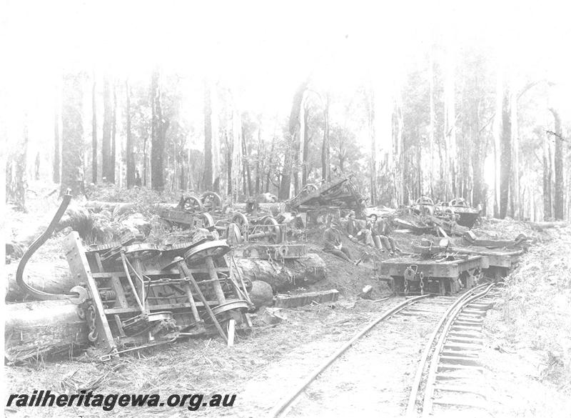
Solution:
M 543 352 L 542 377 L 571 390 L 571 229 L 560 232 L 507 277 L 503 316 L 512 342 Z

